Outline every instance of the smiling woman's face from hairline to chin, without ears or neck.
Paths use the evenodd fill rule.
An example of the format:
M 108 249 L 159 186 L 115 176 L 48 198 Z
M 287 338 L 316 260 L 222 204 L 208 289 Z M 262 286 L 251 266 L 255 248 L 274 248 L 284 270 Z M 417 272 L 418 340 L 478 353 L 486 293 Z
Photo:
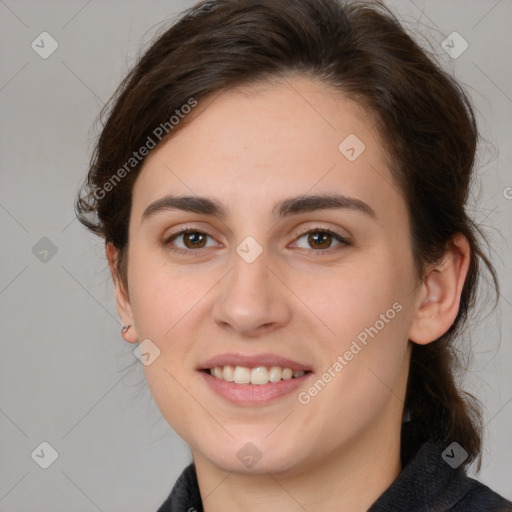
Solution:
M 133 189 L 129 308 L 160 351 L 144 371 L 163 416 L 194 458 L 236 472 L 292 473 L 392 435 L 416 283 L 375 120 L 306 78 L 200 108 Z

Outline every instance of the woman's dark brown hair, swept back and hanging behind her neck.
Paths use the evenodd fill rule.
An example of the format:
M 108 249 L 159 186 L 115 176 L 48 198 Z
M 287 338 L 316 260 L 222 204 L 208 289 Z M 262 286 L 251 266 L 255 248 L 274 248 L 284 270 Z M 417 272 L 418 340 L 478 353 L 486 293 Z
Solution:
M 76 200 L 78 218 L 119 249 L 116 271 L 128 291 L 131 192 L 143 159 L 108 193 L 98 190 L 107 190 L 133 152 L 191 98 L 291 74 L 316 78 L 376 115 L 407 201 L 418 278 L 426 264 L 440 261 L 454 234 L 469 241 L 459 312 L 439 339 L 413 344 L 404 407 L 415 439 L 457 441 L 468 452 L 467 465 L 480 455 L 482 420 L 477 400 L 455 383 L 453 341 L 474 306 L 480 261 L 499 294 L 495 270 L 479 243 L 483 234 L 465 211 L 477 127 L 462 88 L 382 3 L 208 0 L 189 9 L 139 58 L 102 111 L 108 119 Z

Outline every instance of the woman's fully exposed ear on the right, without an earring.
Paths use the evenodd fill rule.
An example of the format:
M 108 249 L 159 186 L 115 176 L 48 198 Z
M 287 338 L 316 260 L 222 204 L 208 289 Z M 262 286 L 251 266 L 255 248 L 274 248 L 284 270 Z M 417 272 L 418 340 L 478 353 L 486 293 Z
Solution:
M 441 263 L 428 273 L 418 294 L 409 340 L 420 345 L 435 341 L 448 331 L 459 312 L 471 249 L 462 233 L 457 233 L 448 247 Z

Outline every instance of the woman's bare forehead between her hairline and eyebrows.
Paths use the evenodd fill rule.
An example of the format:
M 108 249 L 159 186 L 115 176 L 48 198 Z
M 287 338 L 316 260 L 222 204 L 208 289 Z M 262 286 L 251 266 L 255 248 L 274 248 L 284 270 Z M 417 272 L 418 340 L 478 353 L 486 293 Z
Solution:
M 192 115 L 146 158 L 134 187 L 138 217 L 168 193 L 262 212 L 308 192 L 355 196 L 377 212 L 401 200 L 374 117 L 322 83 L 290 78 L 224 91 Z

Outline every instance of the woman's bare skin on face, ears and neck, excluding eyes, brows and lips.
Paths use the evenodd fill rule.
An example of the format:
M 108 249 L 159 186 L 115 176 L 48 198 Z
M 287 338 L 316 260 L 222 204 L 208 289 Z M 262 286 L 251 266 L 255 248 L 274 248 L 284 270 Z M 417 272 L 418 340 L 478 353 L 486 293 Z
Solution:
M 363 511 L 402 469 L 411 345 L 455 320 L 469 246 L 456 236 L 416 279 L 406 204 L 374 127 L 361 106 L 306 77 L 222 92 L 145 160 L 133 189 L 128 291 L 107 246 L 118 312 L 132 325 L 124 338 L 160 350 L 144 367 L 147 382 L 190 446 L 206 512 Z M 338 150 L 349 134 L 366 146 L 352 162 Z M 344 209 L 272 217 L 278 201 L 333 192 L 364 201 L 376 220 Z M 228 215 L 168 210 L 141 222 L 170 193 L 215 198 Z M 187 255 L 165 245 L 186 227 L 208 234 L 207 247 L 189 248 L 184 236 L 173 243 Z M 320 254 L 321 238 L 301 236 L 319 227 L 351 244 L 328 238 Z M 236 252 L 247 236 L 263 250 L 253 263 Z M 196 371 L 217 354 L 272 352 L 312 366 L 307 390 L 396 302 L 402 310 L 306 405 L 296 393 L 233 405 Z M 247 442 L 262 454 L 252 468 L 237 457 Z

